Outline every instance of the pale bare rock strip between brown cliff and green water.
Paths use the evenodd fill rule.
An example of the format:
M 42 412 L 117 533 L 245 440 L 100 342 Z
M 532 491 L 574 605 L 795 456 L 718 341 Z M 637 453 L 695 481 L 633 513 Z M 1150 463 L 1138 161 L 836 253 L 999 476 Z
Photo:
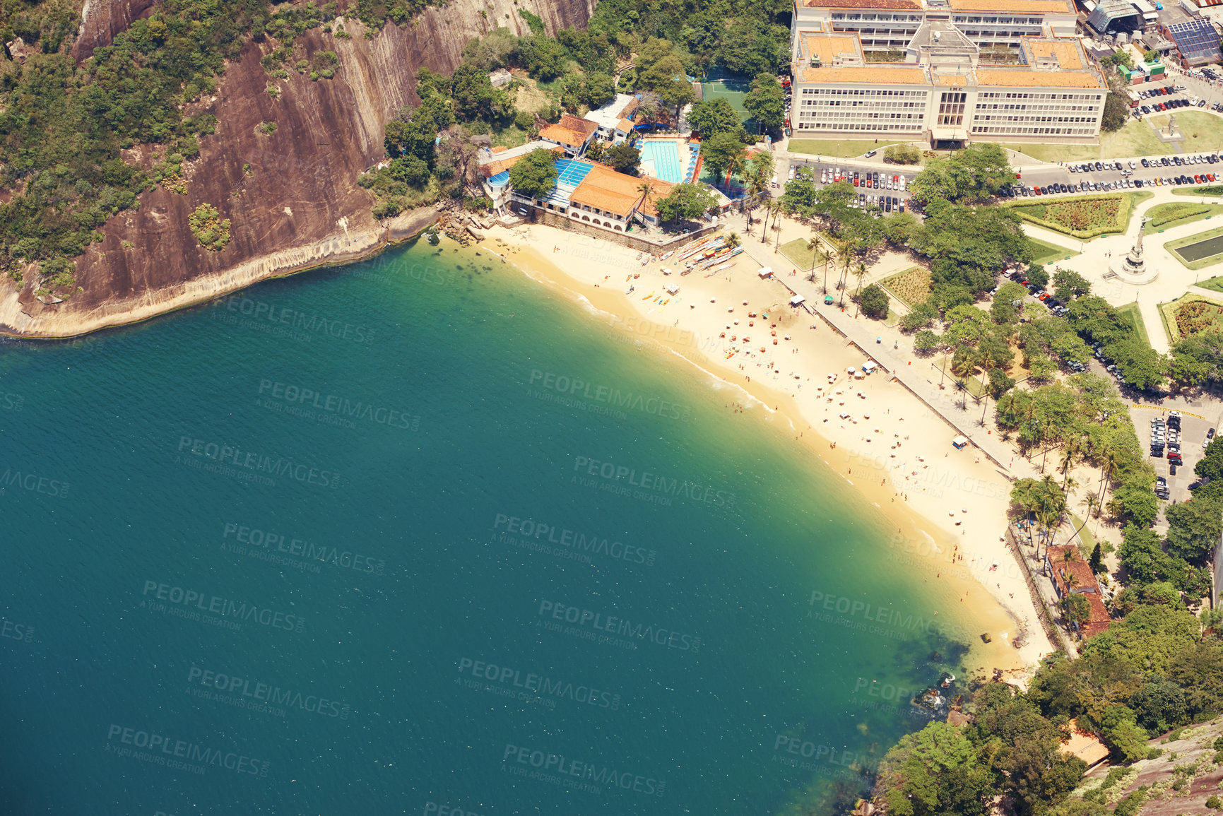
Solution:
M 416 240 L 437 223 L 438 215 L 438 210 L 433 207 L 411 210 L 375 230 L 345 231 L 312 243 L 260 254 L 227 269 L 181 281 L 158 292 L 149 292 L 136 299 L 135 305 L 132 301 L 108 301 L 81 314 L 61 314 L 55 306 L 46 306 L 37 300 L 34 302 L 38 313 L 27 314 L 21 302 L 24 286 L 13 287 L 0 295 L 0 336 L 15 340 L 72 340 L 94 332 L 135 325 L 192 308 L 264 280 L 289 278 L 325 267 L 361 263 L 386 250 Z M 159 297 L 164 300 L 157 300 Z M 51 324 L 53 328 L 45 332 L 15 328 L 20 323 L 37 325 L 43 322 Z M 57 327 L 56 323 L 65 325 Z

